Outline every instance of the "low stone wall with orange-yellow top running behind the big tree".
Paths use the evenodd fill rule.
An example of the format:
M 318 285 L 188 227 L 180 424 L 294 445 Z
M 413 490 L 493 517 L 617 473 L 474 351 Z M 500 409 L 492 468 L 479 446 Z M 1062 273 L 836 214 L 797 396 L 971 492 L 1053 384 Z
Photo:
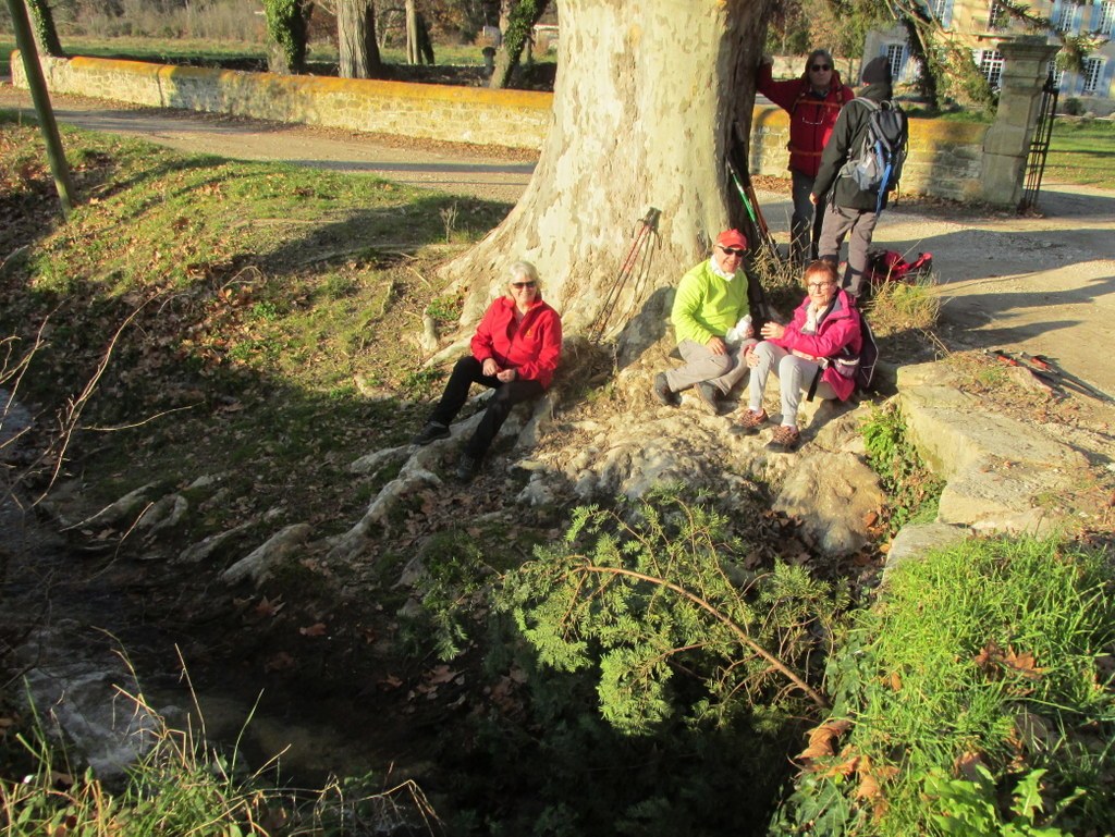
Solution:
M 553 118 L 551 94 L 523 90 L 279 76 L 100 58 L 45 57 L 42 70 L 56 93 L 513 148 L 540 148 Z M 16 86 L 27 86 L 18 53 L 12 53 L 11 72 Z M 956 199 L 976 196 L 987 128 L 912 119 L 902 191 Z M 782 108 L 756 106 L 753 173 L 788 176 L 788 134 L 789 119 Z

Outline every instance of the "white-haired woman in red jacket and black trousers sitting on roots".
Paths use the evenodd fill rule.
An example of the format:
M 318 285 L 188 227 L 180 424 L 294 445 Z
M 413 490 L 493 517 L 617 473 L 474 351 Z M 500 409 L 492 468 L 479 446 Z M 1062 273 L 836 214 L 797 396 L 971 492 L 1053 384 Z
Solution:
M 511 265 L 507 295 L 493 302 L 476 328 L 473 353 L 453 368 L 449 382 L 415 445 L 449 436 L 449 425 L 468 398 L 468 388 L 482 383 L 495 389 L 484 418 L 457 464 L 457 478 L 467 483 L 479 469 L 492 440 L 511 409 L 542 392 L 561 360 L 561 318 L 542 301 L 539 272 L 530 262 Z

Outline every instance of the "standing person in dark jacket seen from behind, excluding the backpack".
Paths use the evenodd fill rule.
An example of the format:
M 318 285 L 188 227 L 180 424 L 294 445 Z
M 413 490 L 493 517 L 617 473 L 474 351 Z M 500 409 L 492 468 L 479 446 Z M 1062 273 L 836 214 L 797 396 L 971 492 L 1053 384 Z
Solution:
M 886 58 L 872 58 L 863 68 L 863 84 L 860 90 L 861 99 L 874 103 L 891 98 L 891 65 Z M 809 199 L 814 205 L 823 201 L 824 194 L 832 188 L 832 199 L 825 202 L 824 220 L 821 227 L 820 256 L 836 264 L 840 262 L 840 249 L 844 236 L 851 233 L 847 242 L 847 270 L 844 272 L 842 286 L 849 296 L 859 299 L 864 291 L 864 272 L 867 267 L 867 247 L 879 221 L 879 212 L 886 206 L 886 195 L 863 192 L 855 182 L 841 175 L 841 168 L 853 156 L 863 142 L 871 123 L 872 109 L 856 105 L 854 101 L 841 110 L 833 128 L 828 145 L 821 155 L 821 169 L 813 184 Z

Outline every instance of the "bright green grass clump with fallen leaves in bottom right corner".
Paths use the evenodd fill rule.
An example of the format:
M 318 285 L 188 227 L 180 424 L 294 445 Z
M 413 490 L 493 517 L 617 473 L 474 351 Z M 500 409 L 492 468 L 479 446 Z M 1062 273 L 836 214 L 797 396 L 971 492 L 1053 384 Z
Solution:
M 1053 539 L 901 564 L 832 658 L 851 731 L 814 753 L 778 833 L 1109 834 L 1113 582 L 1106 549 Z

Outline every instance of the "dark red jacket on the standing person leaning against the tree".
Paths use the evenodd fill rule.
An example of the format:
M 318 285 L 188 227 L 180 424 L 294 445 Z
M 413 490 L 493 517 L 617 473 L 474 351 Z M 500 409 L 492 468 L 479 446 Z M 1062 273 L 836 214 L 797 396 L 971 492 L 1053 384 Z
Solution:
M 833 133 L 840 109 L 855 98 L 855 91 L 840 80 L 834 69 L 828 93 L 823 99 L 809 91 L 809 70 L 801 78 L 775 81 L 769 64 L 759 66 L 757 86 L 760 94 L 789 113 L 789 168 L 807 177 L 816 177 L 821 152 Z

